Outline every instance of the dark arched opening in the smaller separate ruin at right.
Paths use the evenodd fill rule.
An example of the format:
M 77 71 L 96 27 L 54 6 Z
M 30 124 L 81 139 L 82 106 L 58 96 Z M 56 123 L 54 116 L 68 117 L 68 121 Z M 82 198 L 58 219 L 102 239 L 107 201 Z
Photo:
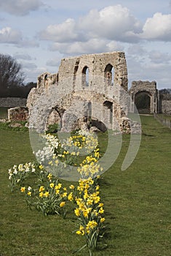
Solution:
M 135 105 L 139 113 L 151 113 L 151 96 L 146 91 L 135 94 Z

